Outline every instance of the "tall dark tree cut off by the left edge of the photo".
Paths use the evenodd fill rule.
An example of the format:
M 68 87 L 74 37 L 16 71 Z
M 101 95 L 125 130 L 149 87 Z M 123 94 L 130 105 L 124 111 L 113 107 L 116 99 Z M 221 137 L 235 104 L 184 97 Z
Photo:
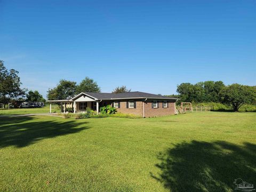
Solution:
M 4 107 L 13 99 L 21 99 L 25 97 L 26 89 L 21 89 L 19 71 L 7 70 L 4 61 L 0 60 L 0 102 L 4 103 Z

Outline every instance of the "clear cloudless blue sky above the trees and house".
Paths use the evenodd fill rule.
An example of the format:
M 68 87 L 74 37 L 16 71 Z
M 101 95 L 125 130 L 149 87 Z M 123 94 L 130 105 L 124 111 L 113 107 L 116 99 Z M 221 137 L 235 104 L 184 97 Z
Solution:
M 255 1 L 0 0 L 0 60 L 44 97 L 61 78 L 102 92 L 256 85 Z

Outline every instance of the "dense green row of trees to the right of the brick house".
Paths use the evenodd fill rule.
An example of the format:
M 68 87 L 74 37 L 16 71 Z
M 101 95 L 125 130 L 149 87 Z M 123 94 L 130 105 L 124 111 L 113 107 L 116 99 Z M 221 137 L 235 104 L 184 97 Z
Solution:
M 196 84 L 181 83 L 177 86 L 179 102 L 220 102 L 230 105 L 235 111 L 246 104 L 255 104 L 256 86 L 241 84 L 225 85 L 222 81 L 205 81 Z

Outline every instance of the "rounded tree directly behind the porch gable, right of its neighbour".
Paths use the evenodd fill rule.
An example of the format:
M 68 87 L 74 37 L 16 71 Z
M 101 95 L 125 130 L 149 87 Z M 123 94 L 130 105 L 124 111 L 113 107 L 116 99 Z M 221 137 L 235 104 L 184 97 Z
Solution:
M 76 93 L 78 94 L 81 92 L 100 92 L 100 87 L 93 79 L 85 77 L 85 79 L 77 85 Z

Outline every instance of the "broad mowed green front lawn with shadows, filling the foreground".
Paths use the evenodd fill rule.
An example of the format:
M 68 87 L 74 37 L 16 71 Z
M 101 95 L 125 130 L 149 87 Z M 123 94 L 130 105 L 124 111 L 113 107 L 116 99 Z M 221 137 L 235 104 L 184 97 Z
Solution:
M 255 136 L 256 113 L 0 118 L 0 191 L 233 191 Z

